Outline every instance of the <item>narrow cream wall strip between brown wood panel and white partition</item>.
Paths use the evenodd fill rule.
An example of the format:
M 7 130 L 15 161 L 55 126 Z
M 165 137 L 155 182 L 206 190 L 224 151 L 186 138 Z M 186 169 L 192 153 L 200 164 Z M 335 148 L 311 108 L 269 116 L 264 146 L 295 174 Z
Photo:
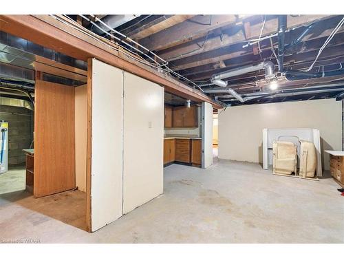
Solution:
M 86 192 L 87 85 L 75 88 L 75 186 Z

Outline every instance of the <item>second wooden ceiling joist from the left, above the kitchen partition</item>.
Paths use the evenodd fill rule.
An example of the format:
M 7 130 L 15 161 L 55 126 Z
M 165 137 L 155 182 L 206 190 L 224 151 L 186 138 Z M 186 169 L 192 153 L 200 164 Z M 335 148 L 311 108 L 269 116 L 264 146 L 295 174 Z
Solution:
M 139 43 L 149 50 L 164 50 L 206 36 L 212 30 L 235 24 L 235 22 L 237 22 L 235 15 L 197 15 L 172 26 L 169 30 L 162 30 L 147 36 L 141 39 Z

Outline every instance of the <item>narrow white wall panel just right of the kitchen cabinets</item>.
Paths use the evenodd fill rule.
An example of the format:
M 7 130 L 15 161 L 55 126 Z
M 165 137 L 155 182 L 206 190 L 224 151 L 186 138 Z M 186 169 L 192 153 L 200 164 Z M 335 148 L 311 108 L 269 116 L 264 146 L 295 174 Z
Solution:
M 202 103 L 202 168 L 213 164 L 213 106 Z

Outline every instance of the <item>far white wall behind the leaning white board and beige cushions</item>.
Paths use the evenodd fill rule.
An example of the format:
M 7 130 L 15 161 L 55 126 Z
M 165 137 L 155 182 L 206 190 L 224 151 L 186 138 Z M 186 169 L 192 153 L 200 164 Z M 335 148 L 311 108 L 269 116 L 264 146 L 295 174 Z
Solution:
M 341 150 L 341 101 L 334 99 L 228 107 L 219 111 L 219 158 L 262 162 L 262 129 L 319 129 L 325 149 Z

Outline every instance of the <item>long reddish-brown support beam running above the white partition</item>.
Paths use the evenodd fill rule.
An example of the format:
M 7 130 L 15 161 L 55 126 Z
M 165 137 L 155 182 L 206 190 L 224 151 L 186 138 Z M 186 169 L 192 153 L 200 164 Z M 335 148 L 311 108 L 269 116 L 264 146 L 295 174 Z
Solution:
M 137 61 L 120 56 L 116 50 L 53 17 L 47 15 L 0 15 L 0 30 L 83 61 L 87 61 L 88 58 L 97 58 L 109 65 L 158 83 L 164 86 L 166 92 L 190 98 L 196 102 L 206 101 L 217 108 L 221 107 L 199 90 Z

